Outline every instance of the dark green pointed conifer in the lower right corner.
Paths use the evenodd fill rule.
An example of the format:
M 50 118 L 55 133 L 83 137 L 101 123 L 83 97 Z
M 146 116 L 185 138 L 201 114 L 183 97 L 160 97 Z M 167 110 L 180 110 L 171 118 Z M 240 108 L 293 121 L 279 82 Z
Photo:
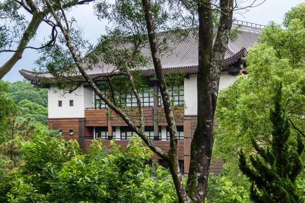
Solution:
M 289 121 L 282 108 L 282 84 L 274 97 L 275 110 L 270 112 L 273 124 L 270 147 L 263 148 L 252 138 L 257 151 L 250 155 L 251 165 L 240 150 L 238 166 L 253 181 L 250 197 L 254 202 L 304 202 L 299 196 L 295 180 L 303 170 L 300 155 L 304 150 L 301 135 L 297 134 L 297 146 L 289 146 L 291 135 Z

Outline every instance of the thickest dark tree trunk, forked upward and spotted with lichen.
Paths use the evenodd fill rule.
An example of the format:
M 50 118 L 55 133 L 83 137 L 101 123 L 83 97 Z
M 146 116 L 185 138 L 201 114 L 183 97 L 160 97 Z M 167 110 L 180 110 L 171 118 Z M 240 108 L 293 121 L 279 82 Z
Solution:
M 223 0 L 214 47 L 210 1 L 198 3 L 199 43 L 197 76 L 197 127 L 191 144 L 191 162 L 187 194 L 195 202 L 204 202 L 212 156 L 213 124 L 219 90 L 222 61 L 232 26 L 233 0 Z

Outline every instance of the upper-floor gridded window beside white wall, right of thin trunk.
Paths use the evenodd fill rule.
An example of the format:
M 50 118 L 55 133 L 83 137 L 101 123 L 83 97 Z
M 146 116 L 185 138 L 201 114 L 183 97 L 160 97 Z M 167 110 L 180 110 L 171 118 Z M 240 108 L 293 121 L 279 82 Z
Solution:
M 169 99 L 170 101 L 174 101 L 175 106 L 184 106 L 184 86 L 177 85 L 173 87 L 167 87 Z M 161 94 L 159 94 L 159 106 L 163 106 L 163 102 L 161 102 Z

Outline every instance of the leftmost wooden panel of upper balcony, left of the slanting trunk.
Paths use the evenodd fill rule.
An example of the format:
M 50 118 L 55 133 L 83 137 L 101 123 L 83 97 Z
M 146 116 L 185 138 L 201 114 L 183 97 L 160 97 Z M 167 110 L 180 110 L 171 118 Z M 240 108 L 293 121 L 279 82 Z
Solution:
M 107 126 L 107 109 L 85 110 L 85 126 Z

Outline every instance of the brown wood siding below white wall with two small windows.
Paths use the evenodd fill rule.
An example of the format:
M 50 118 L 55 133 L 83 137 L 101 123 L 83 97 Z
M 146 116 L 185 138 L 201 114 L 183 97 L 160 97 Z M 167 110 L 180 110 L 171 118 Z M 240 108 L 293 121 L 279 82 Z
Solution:
M 66 118 L 66 119 L 48 119 L 48 126 L 53 130 L 62 130 L 62 134 L 65 140 L 75 139 L 78 142 L 79 129 L 78 118 Z M 73 136 L 69 136 L 69 130 L 73 130 Z

